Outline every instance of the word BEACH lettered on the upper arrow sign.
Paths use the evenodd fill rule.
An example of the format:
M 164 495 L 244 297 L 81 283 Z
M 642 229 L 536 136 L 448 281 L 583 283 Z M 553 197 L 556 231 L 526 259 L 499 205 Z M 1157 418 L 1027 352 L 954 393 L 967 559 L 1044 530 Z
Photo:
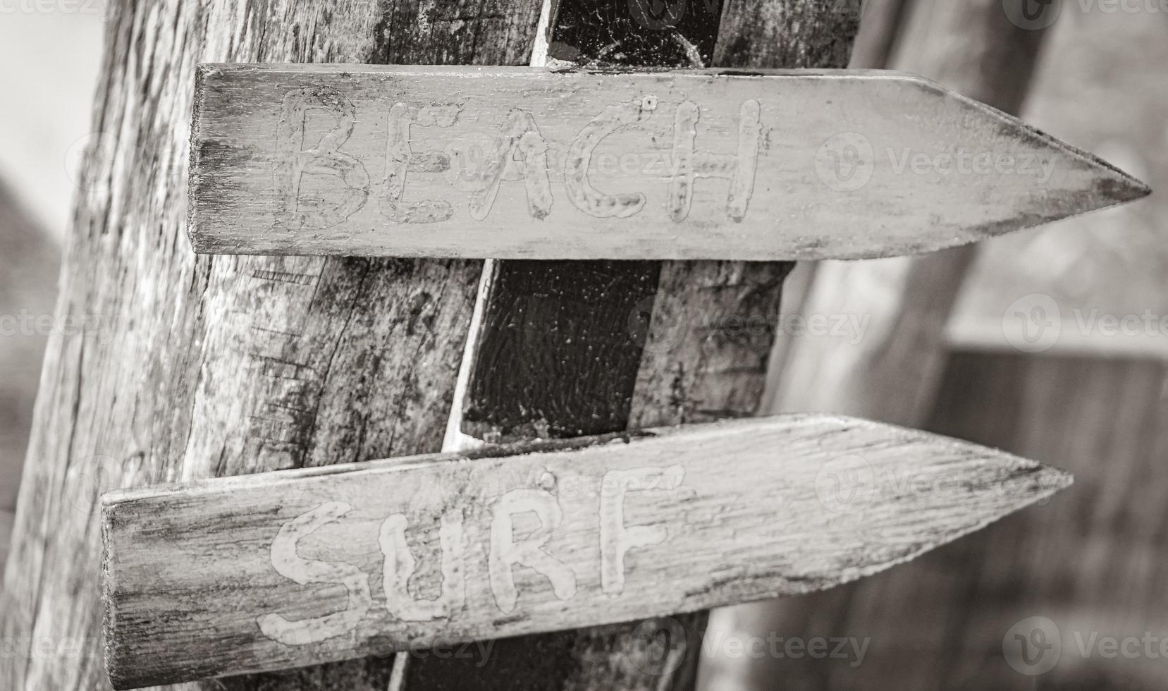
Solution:
M 654 96 L 646 96 L 635 103 L 610 105 L 579 131 L 568 147 L 562 165 L 565 196 L 572 207 L 597 219 L 628 219 L 645 209 L 646 196 L 640 192 L 609 194 L 593 187 L 589 168 L 597 146 L 606 137 L 647 123 L 656 108 Z M 310 110 L 327 111 L 335 118 L 336 125 L 314 146 L 305 148 L 305 118 Z M 451 171 L 449 153 L 413 151 L 410 132 L 413 127 L 451 127 L 461 111 L 463 104 L 459 103 L 395 103 L 389 109 L 385 177 L 375 186 L 364 164 L 341 151 L 357 122 L 353 102 L 329 88 L 290 91 L 283 101 L 277 133 L 277 221 L 290 229 L 328 228 L 364 208 L 370 196 L 376 196 L 382 216 L 395 223 L 449 221 L 454 215 L 454 206 L 449 200 L 405 200 L 410 173 Z M 715 154 L 700 152 L 696 147 L 697 104 L 684 101 L 677 105 L 673 116 L 672 165 L 666 199 L 666 208 L 674 222 L 680 223 L 688 217 L 697 178 L 729 180 L 726 216 L 739 222 L 745 219 L 758 170 L 763 132 L 760 111 L 757 101 L 745 101 L 739 109 L 737 152 Z M 482 221 L 489 215 L 505 181 L 522 182 L 527 210 L 533 219 L 548 217 L 556 201 L 549 175 L 548 143 L 531 113 L 513 109 L 482 159 L 478 170 L 458 172 L 458 181 L 472 192 L 467 205 L 471 217 Z M 305 174 L 335 177 L 343 189 L 331 196 L 328 203 L 321 199 L 305 199 L 300 191 Z

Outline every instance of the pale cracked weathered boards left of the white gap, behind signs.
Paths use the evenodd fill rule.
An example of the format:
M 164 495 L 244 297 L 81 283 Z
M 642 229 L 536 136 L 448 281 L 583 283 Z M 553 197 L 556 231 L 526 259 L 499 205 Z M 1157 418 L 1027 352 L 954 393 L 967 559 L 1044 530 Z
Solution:
M 480 264 L 196 258 L 185 239 L 195 65 L 526 63 L 535 2 L 117 2 L 0 607 L 0 687 L 107 689 L 98 490 L 439 449 Z M 81 655 L 32 655 L 49 641 Z M 72 648 L 76 647 L 76 648 Z M 384 691 L 390 661 L 220 690 Z

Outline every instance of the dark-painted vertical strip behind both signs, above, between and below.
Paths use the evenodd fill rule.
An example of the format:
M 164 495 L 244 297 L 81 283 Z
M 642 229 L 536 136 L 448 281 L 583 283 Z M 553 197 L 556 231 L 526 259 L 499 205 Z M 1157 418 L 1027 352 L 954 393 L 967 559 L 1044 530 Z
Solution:
M 659 26 L 645 14 L 654 7 L 665 9 L 670 21 L 676 22 L 679 13 L 688 19 L 674 27 Z M 710 4 L 691 0 L 663 6 L 566 0 L 554 2 L 551 9 L 550 57 L 597 65 L 702 67 L 719 26 L 717 6 L 705 21 L 689 21 L 711 9 Z M 534 57 L 536 67 L 538 60 Z M 460 431 L 473 435 L 464 442 L 619 431 L 638 409 L 653 415 L 642 427 L 683 422 L 673 408 L 640 408 L 634 389 L 641 372 L 639 348 L 656 338 L 649 319 L 667 313 L 654 295 L 661 278 L 656 262 L 488 261 L 478 305 L 481 325 L 472 334 L 466 364 L 466 394 L 456 401 L 460 415 L 452 420 Z M 690 354 L 677 360 L 682 366 L 701 362 Z M 704 376 L 698 369 L 689 379 Z M 682 385 L 672 391 L 681 394 Z M 484 664 L 439 663 L 431 657 L 411 662 L 405 686 L 684 690 L 696 676 L 698 649 L 693 642 L 701 640 L 705 615 L 675 621 L 680 630 L 667 633 L 666 651 L 653 622 L 520 636 L 499 641 Z

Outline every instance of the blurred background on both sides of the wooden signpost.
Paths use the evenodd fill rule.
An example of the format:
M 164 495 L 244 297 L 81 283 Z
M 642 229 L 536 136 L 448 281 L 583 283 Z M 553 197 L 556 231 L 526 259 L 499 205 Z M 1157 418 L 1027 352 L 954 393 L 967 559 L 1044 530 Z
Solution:
M 100 145 L 103 4 L 0 0 L 0 568 L 75 173 Z M 870 0 L 854 67 L 924 74 L 1168 188 L 1168 0 L 1024 5 Z M 1164 199 L 925 260 L 799 267 L 784 315 L 854 326 L 780 333 L 764 413 L 922 427 L 1077 484 L 861 583 L 716 614 L 704 690 L 1164 686 Z

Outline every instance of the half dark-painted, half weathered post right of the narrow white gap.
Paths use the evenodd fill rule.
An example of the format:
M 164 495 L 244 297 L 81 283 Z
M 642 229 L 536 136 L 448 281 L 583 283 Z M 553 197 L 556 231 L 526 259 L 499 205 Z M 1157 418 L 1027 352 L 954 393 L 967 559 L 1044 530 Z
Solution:
M 705 61 L 714 47 L 721 67 L 842 68 L 858 26 L 858 1 L 734 1 L 721 28 L 703 14 L 711 5 L 666 4 L 690 18 L 669 29 L 632 15 L 649 2 L 562 0 L 549 56 L 693 67 L 694 55 Z M 773 323 L 788 270 L 744 262 L 493 263 L 472 337 L 461 430 L 499 442 L 752 415 L 773 333 L 708 338 L 697 319 Z M 416 661 L 405 687 L 688 689 L 704 624 L 704 615 L 680 616 L 503 640 L 481 666 Z

